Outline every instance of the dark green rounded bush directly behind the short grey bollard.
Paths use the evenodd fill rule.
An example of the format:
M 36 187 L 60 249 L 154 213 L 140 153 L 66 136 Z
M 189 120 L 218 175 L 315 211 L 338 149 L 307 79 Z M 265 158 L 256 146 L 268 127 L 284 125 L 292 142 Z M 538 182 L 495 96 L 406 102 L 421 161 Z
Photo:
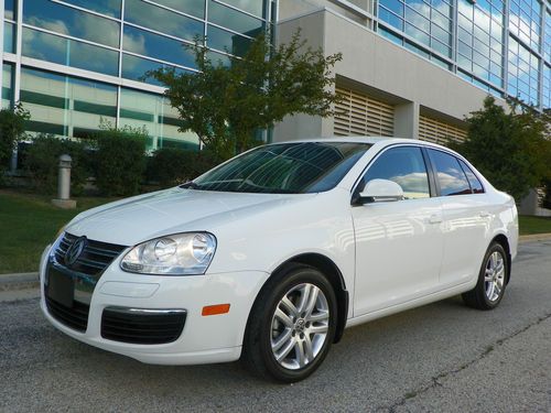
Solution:
M 36 192 L 53 195 L 57 189 L 58 164 L 62 154 L 68 154 L 73 160 L 71 192 L 73 195 L 82 195 L 90 172 L 90 153 L 86 151 L 86 144 L 80 141 L 39 135 L 25 150 L 23 167 L 29 173 Z

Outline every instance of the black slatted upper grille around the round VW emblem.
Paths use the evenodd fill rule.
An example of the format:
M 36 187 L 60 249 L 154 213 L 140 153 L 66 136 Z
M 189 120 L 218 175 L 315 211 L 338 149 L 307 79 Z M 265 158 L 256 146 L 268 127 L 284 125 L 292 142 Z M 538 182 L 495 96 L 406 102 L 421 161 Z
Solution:
M 65 265 L 65 254 L 78 237 L 65 232 L 54 251 L 56 263 Z M 71 269 L 88 275 L 99 275 L 127 247 L 87 240 L 86 247 Z

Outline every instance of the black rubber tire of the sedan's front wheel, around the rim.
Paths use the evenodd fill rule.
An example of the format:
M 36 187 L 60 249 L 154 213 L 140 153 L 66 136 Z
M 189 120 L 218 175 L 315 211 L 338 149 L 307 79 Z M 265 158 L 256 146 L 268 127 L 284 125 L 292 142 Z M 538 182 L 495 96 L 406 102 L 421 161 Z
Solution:
M 316 291 L 318 298 L 315 301 L 315 308 L 312 311 L 312 314 L 326 317 L 326 315 L 324 316 L 325 313 L 318 308 L 321 305 L 326 305 L 328 311 L 328 320 L 307 322 L 311 318 L 302 312 L 295 318 L 290 317 L 293 320 L 294 327 L 285 327 L 283 323 L 279 322 L 279 318 L 276 316 L 276 311 L 280 305 L 283 305 L 281 304 L 281 301 L 284 296 L 290 297 L 291 302 L 293 302 L 293 298 L 296 296 L 293 304 L 300 304 L 300 297 L 307 296 L 304 289 L 311 289 L 309 291 L 315 290 L 309 285 L 313 285 L 318 289 L 318 291 Z M 320 291 L 323 294 L 320 294 Z M 296 307 L 300 307 L 300 305 Z M 280 307 L 280 309 L 281 308 L 284 307 Z M 287 313 L 293 314 L 291 311 L 288 311 Z M 313 317 L 316 316 L 314 315 Z M 300 319 L 302 319 L 302 322 Z M 327 278 L 317 269 L 309 265 L 290 265 L 284 270 L 279 271 L 270 280 L 268 280 L 266 285 L 260 291 L 260 294 L 258 295 L 249 315 L 247 330 L 245 333 L 241 360 L 246 363 L 249 370 L 263 379 L 271 379 L 285 383 L 303 380 L 312 374 L 327 356 L 335 337 L 336 323 L 336 296 Z M 321 328 L 323 329 L 325 328 L 325 324 L 327 332 L 324 341 L 322 341 L 323 345 L 321 345 L 320 341 L 322 340 L 321 336 L 323 336 L 323 334 L 311 334 L 309 332 L 310 328 L 316 328 L 316 326 L 320 325 L 322 325 Z M 291 347 L 294 343 L 293 349 L 282 359 L 282 361 L 278 361 L 276 359 L 276 355 L 272 351 L 272 340 L 274 340 L 274 338 L 282 338 L 284 334 L 283 332 L 279 332 L 274 325 L 280 325 L 281 328 L 287 332 L 287 335 L 292 334 L 292 337 L 284 340 L 284 343 L 290 345 L 289 347 Z M 303 329 L 295 330 L 295 328 L 298 328 L 296 326 L 299 326 L 299 328 L 302 326 Z M 303 349 L 302 355 L 305 355 L 305 351 L 309 348 L 304 341 L 306 339 L 310 343 L 310 348 L 317 348 L 315 356 L 314 351 L 311 352 L 311 356 L 313 356 L 312 360 L 305 361 L 302 367 L 300 367 L 300 365 L 299 367 L 283 366 L 282 362 L 291 360 L 293 355 L 299 359 L 300 349 Z M 302 344 L 296 344 L 292 340 L 300 340 Z M 314 343 L 317 346 L 314 346 Z M 300 349 L 296 346 L 299 346 Z M 289 347 L 282 346 L 282 348 Z M 302 358 L 302 360 L 304 361 L 306 358 Z M 292 360 L 289 362 L 292 362 Z

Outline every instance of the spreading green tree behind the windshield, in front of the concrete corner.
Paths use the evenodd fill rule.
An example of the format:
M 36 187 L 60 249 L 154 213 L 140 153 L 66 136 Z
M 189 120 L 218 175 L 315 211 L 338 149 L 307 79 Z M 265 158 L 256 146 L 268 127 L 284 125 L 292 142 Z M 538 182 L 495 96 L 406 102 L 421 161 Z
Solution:
M 342 55 L 325 57 L 307 47 L 300 31 L 278 47 L 259 35 L 242 58 L 230 57 L 229 66 L 213 63 L 198 41 L 191 48 L 199 73 L 160 68 L 147 76 L 168 87 L 165 95 L 183 122 L 181 131 L 197 133 L 220 159 L 253 146 L 256 131 L 285 116 L 333 113 L 338 98 L 331 88 L 331 70 Z

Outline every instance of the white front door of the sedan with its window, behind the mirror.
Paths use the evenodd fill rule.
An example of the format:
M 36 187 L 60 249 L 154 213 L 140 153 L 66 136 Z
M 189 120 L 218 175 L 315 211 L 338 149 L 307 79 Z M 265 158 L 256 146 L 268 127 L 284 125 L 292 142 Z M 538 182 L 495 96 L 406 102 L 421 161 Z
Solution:
M 402 200 L 352 206 L 356 241 L 354 315 L 406 303 L 436 291 L 442 261 L 442 207 L 431 197 L 424 154 L 392 146 L 375 159 L 358 189 L 370 180 L 399 184 Z

